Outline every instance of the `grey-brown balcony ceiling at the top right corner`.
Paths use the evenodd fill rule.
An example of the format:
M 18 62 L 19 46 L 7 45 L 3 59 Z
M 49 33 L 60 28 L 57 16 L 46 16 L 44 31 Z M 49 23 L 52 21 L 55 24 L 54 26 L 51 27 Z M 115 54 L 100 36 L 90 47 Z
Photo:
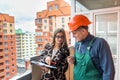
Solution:
M 77 0 L 89 10 L 120 6 L 120 0 Z

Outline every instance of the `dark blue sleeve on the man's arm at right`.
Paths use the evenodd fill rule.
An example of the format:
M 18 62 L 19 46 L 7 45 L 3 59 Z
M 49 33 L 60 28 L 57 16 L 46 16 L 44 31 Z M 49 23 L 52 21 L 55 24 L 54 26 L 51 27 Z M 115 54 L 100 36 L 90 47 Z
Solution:
M 114 80 L 115 69 L 110 47 L 104 39 L 101 39 L 99 45 L 100 66 L 103 70 L 102 80 Z

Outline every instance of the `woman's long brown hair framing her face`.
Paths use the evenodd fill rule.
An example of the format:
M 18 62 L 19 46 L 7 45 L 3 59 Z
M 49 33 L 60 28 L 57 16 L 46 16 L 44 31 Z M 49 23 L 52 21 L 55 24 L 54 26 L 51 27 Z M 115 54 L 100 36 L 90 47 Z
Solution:
M 60 33 L 62 32 L 63 33 L 63 43 L 60 45 L 60 47 L 64 47 L 64 46 L 67 46 L 67 40 L 66 40 L 66 34 L 65 34 L 65 31 L 63 28 L 58 28 L 54 31 L 54 35 L 53 35 L 53 41 L 52 41 L 52 45 L 53 47 L 55 46 L 55 38 L 56 38 L 56 35 L 57 33 Z

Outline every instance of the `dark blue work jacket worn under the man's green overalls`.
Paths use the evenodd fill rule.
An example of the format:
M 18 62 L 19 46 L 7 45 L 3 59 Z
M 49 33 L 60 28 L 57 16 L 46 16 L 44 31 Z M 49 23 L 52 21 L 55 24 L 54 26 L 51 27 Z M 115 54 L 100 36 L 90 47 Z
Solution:
M 84 54 L 89 42 L 94 38 L 90 33 L 86 39 L 75 43 L 75 50 Z M 105 39 L 96 37 L 91 48 L 90 57 L 94 66 L 102 75 L 102 80 L 114 80 L 115 69 L 110 47 Z

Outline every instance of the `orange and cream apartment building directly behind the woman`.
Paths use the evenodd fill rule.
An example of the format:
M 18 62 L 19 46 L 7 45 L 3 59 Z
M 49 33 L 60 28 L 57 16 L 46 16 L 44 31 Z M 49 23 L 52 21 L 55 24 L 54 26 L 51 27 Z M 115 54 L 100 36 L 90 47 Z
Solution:
M 64 28 L 67 42 L 70 46 L 70 30 L 68 21 L 70 20 L 70 5 L 64 0 L 54 0 L 47 3 L 47 9 L 37 12 L 35 25 L 36 29 L 36 54 L 41 54 L 46 43 L 51 42 L 53 32 L 57 28 Z

